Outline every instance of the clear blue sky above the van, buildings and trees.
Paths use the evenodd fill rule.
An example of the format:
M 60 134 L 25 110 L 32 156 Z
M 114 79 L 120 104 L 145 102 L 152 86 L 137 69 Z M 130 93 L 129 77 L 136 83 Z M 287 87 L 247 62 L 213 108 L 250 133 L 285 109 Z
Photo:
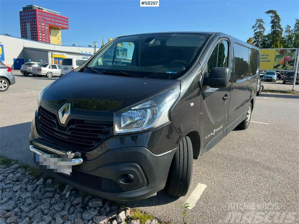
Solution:
M 298 1 L 168 1 L 159 7 L 140 7 L 140 1 L 6 1 L 0 0 L 0 33 L 20 37 L 19 11 L 35 4 L 59 11 L 69 18 L 69 30 L 62 30 L 62 45 L 93 45 L 108 38 L 134 33 L 163 31 L 220 31 L 246 41 L 253 35 L 256 18 L 266 22 L 267 10 L 277 10 L 283 28 L 292 28 L 299 18 Z

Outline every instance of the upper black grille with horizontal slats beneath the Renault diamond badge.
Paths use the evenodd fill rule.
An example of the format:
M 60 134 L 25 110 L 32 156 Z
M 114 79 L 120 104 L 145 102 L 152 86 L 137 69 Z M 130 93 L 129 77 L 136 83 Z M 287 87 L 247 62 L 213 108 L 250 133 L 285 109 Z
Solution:
M 111 133 L 111 125 L 97 121 L 69 120 L 66 127 L 59 124 L 54 113 L 39 107 L 38 128 L 42 135 L 66 148 L 80 151 L 92 149 Z

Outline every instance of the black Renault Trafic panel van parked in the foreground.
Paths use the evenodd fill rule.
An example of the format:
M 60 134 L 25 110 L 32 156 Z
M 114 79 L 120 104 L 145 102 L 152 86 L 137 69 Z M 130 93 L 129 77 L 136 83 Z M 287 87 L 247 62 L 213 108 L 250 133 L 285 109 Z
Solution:
M 109 200 L 184 196 L 193 159 L 248 127 L 258 70 L 259 49 L 224 33 L 115 38 L 41 91 L 33 160 Z

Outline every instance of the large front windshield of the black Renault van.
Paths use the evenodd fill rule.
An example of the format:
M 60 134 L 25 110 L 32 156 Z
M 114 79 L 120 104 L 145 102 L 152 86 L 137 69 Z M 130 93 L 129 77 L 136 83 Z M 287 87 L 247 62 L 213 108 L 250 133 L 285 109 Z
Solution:
M 176 79 L 199 55 L 209 34 L 154 33 L 119 37 L 86 65 L 100 73 Z M 63 63 L 63 62 L 62 62 Z M 85 72 L 92 72 L 85 69 Z

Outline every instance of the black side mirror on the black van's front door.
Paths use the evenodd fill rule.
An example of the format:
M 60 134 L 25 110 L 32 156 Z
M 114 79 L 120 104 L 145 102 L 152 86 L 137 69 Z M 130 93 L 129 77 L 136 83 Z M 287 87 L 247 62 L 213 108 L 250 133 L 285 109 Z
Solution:
M 214 67 L 211 70 L 210 76 L 204 78 L 203 85 L 212 88 L 226 88 L 229 82 L 229 77 L 229 68 Z

